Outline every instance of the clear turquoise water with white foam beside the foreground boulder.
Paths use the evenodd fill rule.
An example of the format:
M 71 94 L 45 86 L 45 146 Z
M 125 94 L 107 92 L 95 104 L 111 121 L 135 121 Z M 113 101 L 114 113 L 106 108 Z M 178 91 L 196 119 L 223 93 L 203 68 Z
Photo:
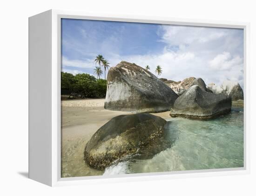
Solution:
M 167 131 L 170 148 L 110 166 L 104 175 L 243 167 L 243 107 L 212 120 L 171 118 Z

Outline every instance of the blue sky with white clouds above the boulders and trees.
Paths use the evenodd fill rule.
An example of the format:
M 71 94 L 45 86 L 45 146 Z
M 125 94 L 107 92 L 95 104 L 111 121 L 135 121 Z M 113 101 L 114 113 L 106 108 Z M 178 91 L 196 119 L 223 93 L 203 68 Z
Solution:
M 168 80 L 231 80 L 243 88 L 243 29 L 61 19 L 62 71 L 96 76 L 98 54 L 111 67 L 128 61 L 155 74 L 160 65 Z

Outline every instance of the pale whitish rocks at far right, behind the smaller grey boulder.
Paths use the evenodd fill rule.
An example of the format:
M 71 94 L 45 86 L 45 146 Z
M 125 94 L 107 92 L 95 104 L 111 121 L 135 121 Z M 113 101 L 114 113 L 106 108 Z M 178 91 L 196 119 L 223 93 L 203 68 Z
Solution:
M 207 85 L 207 88 L 211 89 L 215 94 L 224 93 L 231 96 L 232 101 L 239 99 L 243 100 L 243 89 L 238 82 L 224 81 L 221 86 L 218 86 L 215 83 L 210 83 Z

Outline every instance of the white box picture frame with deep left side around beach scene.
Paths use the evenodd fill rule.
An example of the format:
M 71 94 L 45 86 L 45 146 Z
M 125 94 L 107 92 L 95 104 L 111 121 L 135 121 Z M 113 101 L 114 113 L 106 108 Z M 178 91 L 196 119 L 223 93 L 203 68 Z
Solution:
M 61 178 L 61 18 L 244 30 L 244 167 Z M 40 90 L 38 90 L 40 89 Z M 249 173 L 249 23 L 49 10 L 29 18 L 29 178 L 49 186 Z

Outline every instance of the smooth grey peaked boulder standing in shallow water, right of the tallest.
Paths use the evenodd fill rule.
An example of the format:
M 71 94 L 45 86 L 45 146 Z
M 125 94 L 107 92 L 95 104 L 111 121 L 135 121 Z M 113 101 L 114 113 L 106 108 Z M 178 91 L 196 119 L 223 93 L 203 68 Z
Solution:
M 230 110 L 230 96 L 209 93 L 202 90 L 198 85 L 193 85 L 176 99 L 170 116 L 209 119 L 229 113 Z

